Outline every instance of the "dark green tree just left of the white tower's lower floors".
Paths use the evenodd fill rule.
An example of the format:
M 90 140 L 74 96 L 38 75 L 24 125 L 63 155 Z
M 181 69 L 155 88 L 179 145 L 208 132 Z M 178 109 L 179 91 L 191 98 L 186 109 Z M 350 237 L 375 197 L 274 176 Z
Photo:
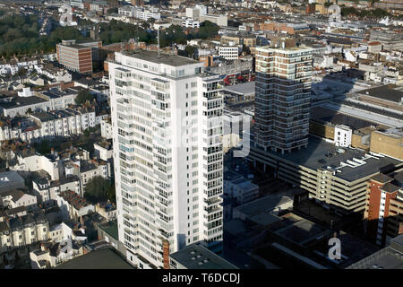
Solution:
M 107 178 L 100 176 L 91 178 L 84 187 L 84 197 L 94 204 L 107 200 L 116 203 L 115 185 Z

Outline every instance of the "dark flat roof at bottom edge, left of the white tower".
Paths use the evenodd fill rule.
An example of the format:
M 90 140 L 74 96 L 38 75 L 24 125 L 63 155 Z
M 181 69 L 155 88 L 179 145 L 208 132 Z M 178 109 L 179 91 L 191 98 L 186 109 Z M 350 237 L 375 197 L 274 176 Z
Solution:
M 56 269 L 135 269 L 112 248 L 99 249 L 81 257 L 75 257 Z

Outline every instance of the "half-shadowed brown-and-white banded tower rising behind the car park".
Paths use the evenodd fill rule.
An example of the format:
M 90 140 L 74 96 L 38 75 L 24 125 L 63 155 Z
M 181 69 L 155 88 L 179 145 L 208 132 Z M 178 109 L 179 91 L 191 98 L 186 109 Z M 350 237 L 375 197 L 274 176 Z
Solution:
M 281 153 L 308 144 L 310 48 L 256 48 L 255 143 Z

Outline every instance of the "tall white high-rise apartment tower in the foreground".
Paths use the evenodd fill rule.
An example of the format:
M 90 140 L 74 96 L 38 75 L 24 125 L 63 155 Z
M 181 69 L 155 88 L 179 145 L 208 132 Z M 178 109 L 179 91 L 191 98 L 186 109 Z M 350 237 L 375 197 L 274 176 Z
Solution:
M 117 222 L 128 260 L 162 267 L 167 242 L 170 253 L 200 240 L 219 252 L 219 77 L 187 57 L 143 50 L 115 56 L 108 69 Z

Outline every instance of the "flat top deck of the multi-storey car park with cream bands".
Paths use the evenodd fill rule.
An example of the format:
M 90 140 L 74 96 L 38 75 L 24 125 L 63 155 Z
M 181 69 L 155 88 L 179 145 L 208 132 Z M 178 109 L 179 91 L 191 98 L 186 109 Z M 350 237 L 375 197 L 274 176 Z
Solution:
M 337 151 L 341 152 L 337 152 Z M 364 159 L 365 163 L 356 165 L 356 167 L 343 166 L 341 162 L 352 161 L 353 159 L 362 159 L 365 156 L 365 152 L 358 149 L 339 148 L 333 143 L 327 143 L 317 137 L 310 136 L 308 146 L 301 150 L 287 152 L 281 154 L 280 152 L 274 152 L 268 150 L 264 152 L 257 150 L 263 154 L 271 154 L 275 158 L 280 158 L 285 161 L 292 162 L 298 166 L 304 166 L 310 170 L 339 170 L 336 171 L 335 177 L 344 179 L 346 181 L 355 181 L 360 178 L 374 175 L 378 172 L 391 171 L 396 166 L 403 166 L 403 161 L 399 161 L 387 156 L 379 159 L 369 157 Z

